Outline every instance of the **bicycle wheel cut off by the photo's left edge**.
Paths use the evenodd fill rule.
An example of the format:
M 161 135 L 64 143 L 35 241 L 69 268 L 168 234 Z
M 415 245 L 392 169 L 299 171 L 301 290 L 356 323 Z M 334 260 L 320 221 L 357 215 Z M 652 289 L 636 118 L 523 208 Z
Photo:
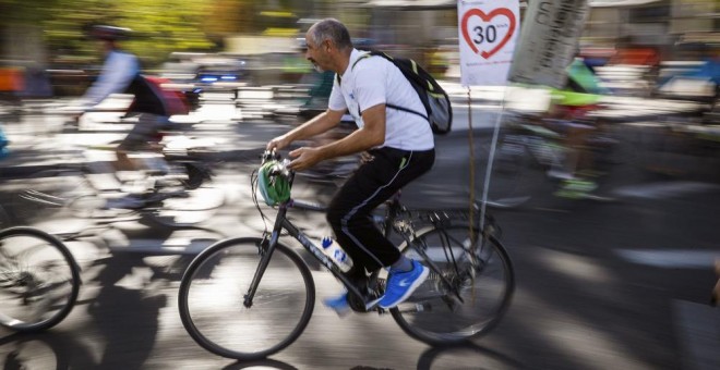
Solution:
M 0 325 L 17 332 L 57 325 L 80 284 L 80 267 L 60 239 L 27 226 L 0 231 Z

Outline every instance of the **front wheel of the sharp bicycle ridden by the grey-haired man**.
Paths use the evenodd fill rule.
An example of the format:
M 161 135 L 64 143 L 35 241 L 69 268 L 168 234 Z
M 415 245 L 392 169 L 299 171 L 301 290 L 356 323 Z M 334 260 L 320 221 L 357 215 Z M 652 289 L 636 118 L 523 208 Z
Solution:
M 197 255 L 182 276 L 178 296 L 182 324 L 213 354 L 262 359 L 292 344 L 310 322 L 315 303 L 310 269 L 279 243 L 253 305 L 243 306 L 264 255 L 259 252 L 262 243 L 253 237 L 220 240 Z

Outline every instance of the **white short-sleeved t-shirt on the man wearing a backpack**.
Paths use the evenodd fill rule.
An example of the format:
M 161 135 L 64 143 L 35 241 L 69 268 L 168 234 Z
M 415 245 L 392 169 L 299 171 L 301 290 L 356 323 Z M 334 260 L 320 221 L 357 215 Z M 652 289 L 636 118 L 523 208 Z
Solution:
M 355 64 L 362 54 L 352 49 L 350 63 L 339 85 L 335 78 L 328 102 L 331 110 L 347 109 L 358 127 L 364 124 L 361 112 L 377 104 L 389 103 L 416 112 L 425 111 L 418 92 L 395 64 L 382 57 L 367 57 Z M 401 110 L 385 109 L 385 143 L 381 147 L 429 150 L 434 147 L 432 135 L 428 120 Z

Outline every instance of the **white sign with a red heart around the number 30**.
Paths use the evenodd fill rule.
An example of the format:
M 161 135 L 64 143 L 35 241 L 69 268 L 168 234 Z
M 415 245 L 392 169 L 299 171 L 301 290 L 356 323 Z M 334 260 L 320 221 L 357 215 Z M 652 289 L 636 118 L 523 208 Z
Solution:
M 504 85 L 519 34 L 519 1 L 459 0 L 457 10 L 464 85 Z

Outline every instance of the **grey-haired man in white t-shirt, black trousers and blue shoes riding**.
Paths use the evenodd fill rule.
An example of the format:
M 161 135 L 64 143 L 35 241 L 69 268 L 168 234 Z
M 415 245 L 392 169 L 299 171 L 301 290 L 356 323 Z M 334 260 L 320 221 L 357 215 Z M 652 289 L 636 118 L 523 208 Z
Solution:
M 428 276 L 428 268 L 407 259 L 372 222 L 371 211 L 401 187 L 428 172 L 435 160 L 433 134 L 427 119 L 386 104 L 415 111 L 424 108 L 403 73 L 384 58 L 365 55 L 352 46 L 346 26 L 337 20 L 315 23 L 305 34 L 305 58 L 317 71 L 333 71 L 336 78 L 325 112 L 272 139 L 267 149 L 283 149 L 292 141 L 327 132 L 347 111 L 358 128 L 348 136 L 320 147 L 290 151 L 296 171 L 315 163 L 368 151 L 363 162 L 331 201 L 326 218 L 337 242 L 353 261 L 348 276 L 362 288 L 368 273 L 389 268 L 382 308 L 407 299 Z M 327 306 L 347 311 L 347 293 L 327 299 Z

